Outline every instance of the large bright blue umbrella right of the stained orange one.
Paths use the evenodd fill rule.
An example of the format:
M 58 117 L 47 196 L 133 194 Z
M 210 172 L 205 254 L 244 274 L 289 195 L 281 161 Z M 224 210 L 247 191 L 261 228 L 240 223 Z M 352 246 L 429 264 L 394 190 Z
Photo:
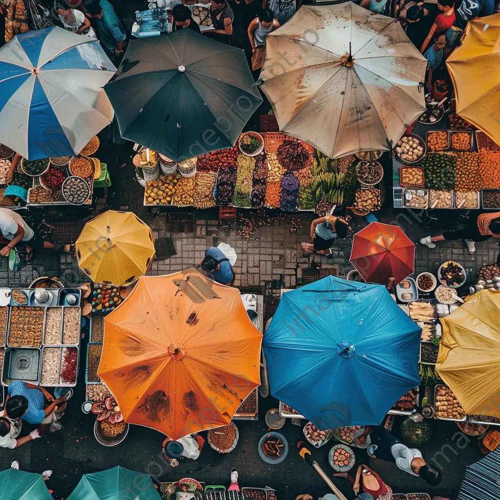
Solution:
M 385 286 L 328 276 L 287 291 L 263 339 L 271 394 L 320 429 L 379 424 L 419 383 L 420 334 Z

